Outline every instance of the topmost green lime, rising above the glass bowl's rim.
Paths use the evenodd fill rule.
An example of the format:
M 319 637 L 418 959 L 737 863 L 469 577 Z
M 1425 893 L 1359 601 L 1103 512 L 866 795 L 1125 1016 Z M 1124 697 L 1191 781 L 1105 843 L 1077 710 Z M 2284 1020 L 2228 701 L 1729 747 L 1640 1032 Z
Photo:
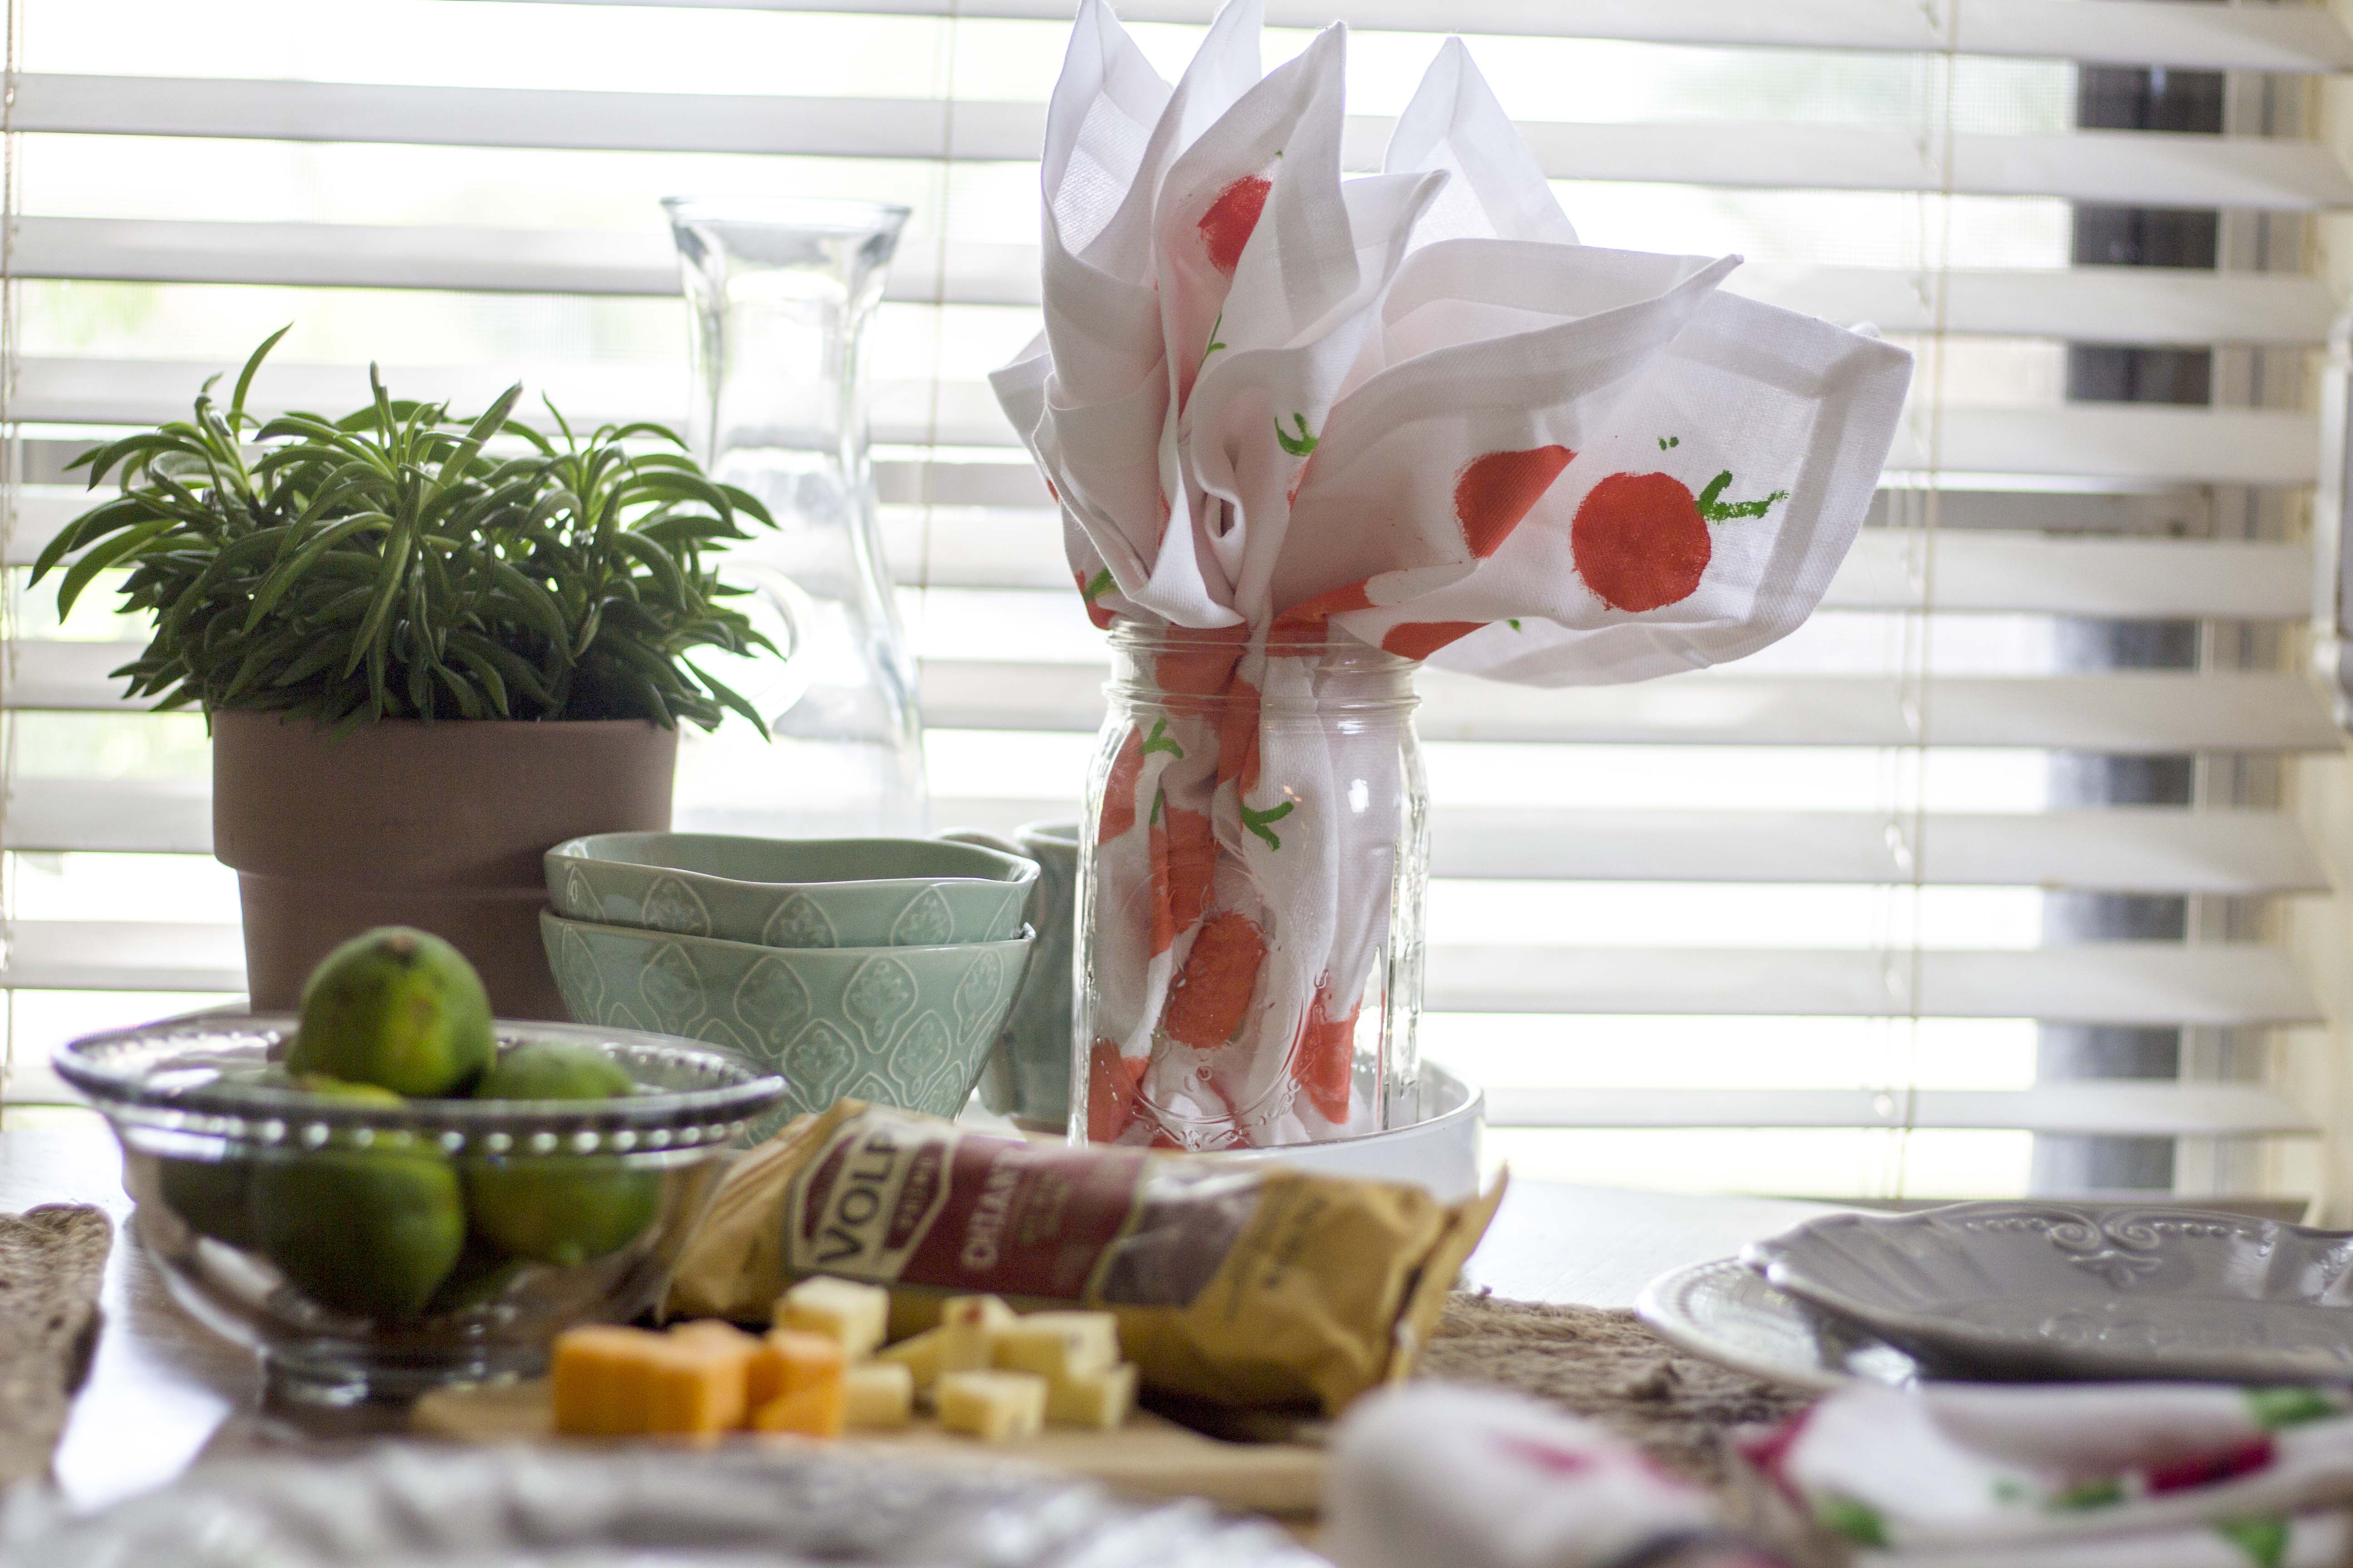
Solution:
M 287 1070 L 435 1098 L 492 1063 L 482 976 L 449 943 L 407 926 L 355 936 L 311 971 Z

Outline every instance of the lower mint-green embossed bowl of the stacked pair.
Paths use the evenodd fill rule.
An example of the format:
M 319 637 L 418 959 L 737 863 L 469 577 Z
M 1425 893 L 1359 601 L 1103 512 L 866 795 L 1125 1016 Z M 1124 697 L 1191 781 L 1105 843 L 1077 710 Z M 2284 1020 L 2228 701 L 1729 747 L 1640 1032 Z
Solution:
M 760 947 L 541 914 L 572 1016 L 739 1051 L 784 1074 L 779 1121 L 842 1095 L 953 1117 L 1031 938 L 953 947 Z

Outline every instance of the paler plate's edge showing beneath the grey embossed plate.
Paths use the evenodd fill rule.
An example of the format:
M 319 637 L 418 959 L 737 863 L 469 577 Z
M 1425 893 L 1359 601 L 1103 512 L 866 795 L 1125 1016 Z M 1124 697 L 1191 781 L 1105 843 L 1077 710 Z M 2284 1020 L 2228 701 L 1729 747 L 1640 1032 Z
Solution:
M 1680 1349 L 1767 1382 L 1826 1394 L 1857 1380 L 1906 1385 L 1920 1375 L 1894 1345 L 1807 1312 L 1739 1258 L 1661 1274 L 1633 1309 Z

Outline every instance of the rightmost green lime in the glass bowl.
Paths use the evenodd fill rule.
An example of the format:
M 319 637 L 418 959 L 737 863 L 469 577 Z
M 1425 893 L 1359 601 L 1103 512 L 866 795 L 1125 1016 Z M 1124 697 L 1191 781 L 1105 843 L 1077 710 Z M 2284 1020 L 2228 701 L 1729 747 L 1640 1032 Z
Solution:
M 635 1093 L 595 1046 L 532 1041 L 482 1074 L 478 1100 L 614 1100 Z M 635 1241 L 661 1208 L 661 1173 L 619 1159 L 522 1157 L 466 1168 L 475 1229 L 534 1262 L 569 1267 Z

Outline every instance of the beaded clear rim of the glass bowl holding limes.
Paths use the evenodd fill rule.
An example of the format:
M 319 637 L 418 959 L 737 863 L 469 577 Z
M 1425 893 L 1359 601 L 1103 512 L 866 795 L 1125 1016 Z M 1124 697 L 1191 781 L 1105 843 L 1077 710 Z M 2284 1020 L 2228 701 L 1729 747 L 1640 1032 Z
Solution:
M 264 1147 L 367 1145 L 409 1133 L 447 1154 L 664 1154 L 718 1152 L 760 1114 L 784 1103 L 781 1074 L 741 1058 L 642 1030 L 496 1020 L 499 1044 L 565 1041 L 619 1046 L 624 1067 L 673 1065 L 722 1079 L 713 1088 L 666 1088 L 619 1100 L 407 1100 L 365 1105 L 299 1088 L 231 1084 L 219 1077 L 169 1084 L 176 1058 L 273 1046 L 294 1034 L 292 1013 L 205 1013 L 169 1023 L 85 1034 L 49 1058 L 56 1074 L 89 1095 L 118 1126 L 226 1138 Z M 184 1063 L 195 1074 L 202 1063 Z M 176 1074 L 174 1074 L 176 1077 Z

